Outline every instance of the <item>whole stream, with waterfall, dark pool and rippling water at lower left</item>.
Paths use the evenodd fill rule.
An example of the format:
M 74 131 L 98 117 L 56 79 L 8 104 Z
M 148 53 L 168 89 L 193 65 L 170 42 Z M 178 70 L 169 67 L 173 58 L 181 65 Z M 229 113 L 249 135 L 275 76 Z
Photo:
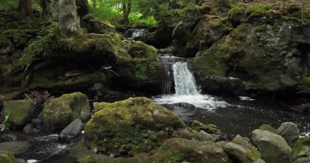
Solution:
M 159 50 L 159 57 L 169 77 L 163 86 L 162 95 L 148 98 L 173 111 L 187 125 L 190 126 L 193 120 L 197 120 L 204 124 L 215 124 L 222 133 L 240 134 L 250 138 L 251 131 L 262 124 L 277 128 L 283 122 L 294 122 L 301 135 L 309 134 L 309 113 L 292 112 L 281 105 L 248 97 L 227 98 L 201 94 L 187 59 L 173 57 L 168 49 Z M 99 102 L 114 102 L 127 98 L 108 97 L 100 99 Z M 94 101 L 90 101 L 90 105 L 92 102 Z M 41 131 L 33 135 L 14 134 L 18 135 L 19 141 L 34 146 L 31 151 L 19 155 L 18 158 L 34 162 L 53 155 L 42 162 L 74 162 L 68 150 L 76 141 L 62 144 L 58 142 L 57 134 L 46 135 Z

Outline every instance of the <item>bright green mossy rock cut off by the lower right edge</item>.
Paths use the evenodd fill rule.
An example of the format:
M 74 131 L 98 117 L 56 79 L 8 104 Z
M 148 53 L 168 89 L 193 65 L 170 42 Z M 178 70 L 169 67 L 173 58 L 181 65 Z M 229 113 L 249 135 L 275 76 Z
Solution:
M 293 147 L 292 153 L 293 156 L 298 159 L 304 157 L 305 154 L 310 150 L 310 137 L 301 137 L 296 142 Z

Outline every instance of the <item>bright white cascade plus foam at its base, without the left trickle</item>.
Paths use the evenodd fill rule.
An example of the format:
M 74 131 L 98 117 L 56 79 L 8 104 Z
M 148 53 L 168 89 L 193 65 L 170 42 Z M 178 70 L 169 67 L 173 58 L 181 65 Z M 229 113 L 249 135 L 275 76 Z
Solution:
M 214 109 L 229 104 L 210 95 L 202 95 L 195 83 L 194 75 L 187 62 L 176 62 L 172 65 L 174 78 L 174 95 L 164 95 L 153 99 L 158 104 L 190 103 L 196 107 Z

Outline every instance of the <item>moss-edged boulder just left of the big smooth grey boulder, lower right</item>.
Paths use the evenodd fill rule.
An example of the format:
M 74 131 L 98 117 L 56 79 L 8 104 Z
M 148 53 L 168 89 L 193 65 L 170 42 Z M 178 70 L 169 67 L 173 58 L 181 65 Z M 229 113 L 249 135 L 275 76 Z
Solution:
M 224 151 L 233 158 L 233 160 L 241 163 L 252 163 L 256 159 L 261 158 L 261 153 L 257 151 L 248 140 L 238 135 L 233 141 L 225 144 Z

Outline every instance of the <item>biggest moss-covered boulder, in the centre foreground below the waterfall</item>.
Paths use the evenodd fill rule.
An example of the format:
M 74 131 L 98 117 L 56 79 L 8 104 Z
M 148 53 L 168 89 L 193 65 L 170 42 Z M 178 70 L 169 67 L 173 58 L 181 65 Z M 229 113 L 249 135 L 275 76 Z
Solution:
M 159 147 L 185 124 L 148 98 L 98 103 L 85 126 L 85 141 L 104 153 L 134 155 Z

